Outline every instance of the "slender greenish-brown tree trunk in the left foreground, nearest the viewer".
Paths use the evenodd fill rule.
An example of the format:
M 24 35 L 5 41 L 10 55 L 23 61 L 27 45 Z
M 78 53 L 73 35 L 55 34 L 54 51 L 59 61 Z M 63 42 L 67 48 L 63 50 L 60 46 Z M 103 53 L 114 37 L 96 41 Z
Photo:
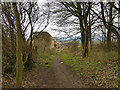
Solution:
M 16 24 L 16 80 L 15 88 L 21 88 L 22 85 L 22 74 L 23 74 L 23 50 L 22 50 L 22 28 L 20 24 L 20 16 L 17 10 L 16 2 L 12 3 L 14 12 L 15 24 Z

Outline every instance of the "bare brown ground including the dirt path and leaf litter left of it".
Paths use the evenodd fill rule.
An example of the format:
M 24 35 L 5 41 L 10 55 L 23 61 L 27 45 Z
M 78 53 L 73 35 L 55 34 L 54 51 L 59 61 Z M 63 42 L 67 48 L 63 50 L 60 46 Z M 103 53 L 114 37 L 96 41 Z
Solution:
M 3 78 L 3 88 L 12 88 L 14 78 L 8 80 Z M 77 75 L 69 66 L 65 65 L 60 55 L 53 59 L 50 67 L 41 65 L 34 67 L 31 71 L 23 72 L 23 88 L 89 88 L 97 87 L 88 82 L 89 79 Z

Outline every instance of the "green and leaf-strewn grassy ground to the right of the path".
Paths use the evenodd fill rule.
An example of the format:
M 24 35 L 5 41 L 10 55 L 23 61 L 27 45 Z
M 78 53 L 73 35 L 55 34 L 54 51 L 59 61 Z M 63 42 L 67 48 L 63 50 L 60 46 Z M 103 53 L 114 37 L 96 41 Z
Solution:
M 62 53 L 62 52 L 61 52 Z M 81 51 L 74 56 L 69 49 L 63 51 L 61 59 L 66 65 L 72 67 L 78 75 L 90 77 L 99 87 L 117 87 L 118 72 L 117 52 L 104 52 L 102 50 L 90 51 L 89 56 L 82 58 Z

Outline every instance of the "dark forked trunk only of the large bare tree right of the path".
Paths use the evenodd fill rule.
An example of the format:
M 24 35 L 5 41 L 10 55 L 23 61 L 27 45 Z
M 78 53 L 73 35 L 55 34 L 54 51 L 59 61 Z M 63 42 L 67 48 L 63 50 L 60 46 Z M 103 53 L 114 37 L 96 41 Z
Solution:
M 91 6 L 89 5 L 87 11 L 84 13 L 84 16 L 82 17 L 81 3 L 77 2 L 77 10 L 79 12 L 78 19 L 79 19 L 80 31 L 81 31 L 81 44 L 82 44 L 82 57 L 83 58 L 88 56 L 89 25 L 87 23 L 87 17 L 90 12 L 90 7 Z

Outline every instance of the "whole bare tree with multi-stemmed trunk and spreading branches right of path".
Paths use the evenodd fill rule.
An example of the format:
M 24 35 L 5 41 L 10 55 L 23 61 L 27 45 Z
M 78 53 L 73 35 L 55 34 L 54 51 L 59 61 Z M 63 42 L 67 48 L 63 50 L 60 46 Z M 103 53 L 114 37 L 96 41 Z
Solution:
M 88 22 L 89 12 L 92 3 L 82 3 L 82 2 L 62 2 L 68 12 L 78 18 L 79 32 L 81 33 L 81 43 L 82 43 L 82 56 L 88 56 L 88 42 L 90 36 L 90 27 L 93 22 Z

